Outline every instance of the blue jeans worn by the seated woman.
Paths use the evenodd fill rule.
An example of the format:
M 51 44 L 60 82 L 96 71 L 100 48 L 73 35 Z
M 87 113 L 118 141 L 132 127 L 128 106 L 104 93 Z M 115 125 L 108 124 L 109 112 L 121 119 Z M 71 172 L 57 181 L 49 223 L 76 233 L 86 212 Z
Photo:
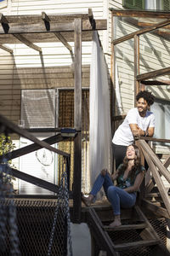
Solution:
M 136 202 L 136 192 L 127 193 L 127 191 L 114 186 L 108 173 L 106 173 L 105 176 L 99 174 L 90 194 L 94 196 L 97 195 L 102 186 L 104 187 L 105 195 L 111 202 L 114 215 L 120 215 L 121 207 L 130 208 L 134 206 Z

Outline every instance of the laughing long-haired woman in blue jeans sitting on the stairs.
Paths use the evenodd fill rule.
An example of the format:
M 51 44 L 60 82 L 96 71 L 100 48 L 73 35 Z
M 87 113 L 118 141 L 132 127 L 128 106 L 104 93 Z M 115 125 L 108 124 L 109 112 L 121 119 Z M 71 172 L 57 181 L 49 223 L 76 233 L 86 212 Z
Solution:
M 122 224 L 120 208 L 133 207 L 136 202 L 137 191 L 139 191 L 139 186 L 144 178 L 144 171 L 144 166 L 140 164 L 139 148 L 134 144 L 129 145 L 123 163 L 116 172 L 111 175 L 106 169 L 103 169 L 95 180 L 88 197 L 82 195 L 82 201 L 89 207 L 103 186 L 115 216 L 115 220 L 110 226 L 117 227 Z M 117 182 L 116 186 L 112 182 L 114 180 Z

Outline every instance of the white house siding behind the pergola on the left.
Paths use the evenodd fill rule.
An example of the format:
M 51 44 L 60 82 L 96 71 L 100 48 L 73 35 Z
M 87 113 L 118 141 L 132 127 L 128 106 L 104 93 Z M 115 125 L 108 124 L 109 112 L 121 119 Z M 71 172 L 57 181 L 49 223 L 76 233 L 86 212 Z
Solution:
M 104 16 L 106 18 L 104 2 L 103 0 L 8 0 L 8 8 L 1 11 L 3 15 L 41 15 L 42 11 L 47 15 L 69 15 L 88 14 L 88 9 L 92 9 L 95 19 L 103 19 Z M 102 42 L 103 32 L 99 32 L 99 35 Z M 46 84 L 47 88 L 59 87 L 55 77 L 54 79 L 51 78 L 48 84 L 46 83 L 42 77 L 41 67 L 69 67 L 72 63 L 71 54 L 63 44 L 58 42 L 35 44 L 42 48 L 42 58 L 36 50 L 27 47 L 25 44 L 5 44 L 14 49 L 13 56 L 3 49 L 0 50 L 0 106 L 2 107 L 0 113 L 3 113 L 15 123 L 20 119 L 20 89 L 29 89 L 33 86 L 38 89 L 38 86 L 42 88 L 42 84 L 44 84 L 43 87 Z M 69 44 L 71 44 L 74 51 L 74 43 L 69 42 Z M 89 65 L 90 56 L 91 42 L 82 42 L 82 65 Z M 20 79 L 20 70 L 23 73 L 24 68 L 26 68 L 26 73 L 27 68 L 39 68 L 40 74 L 37 73 L 37 76 L 34 77 L 28 75 L 25 80 Z M 89 86 L 88 82 L 82 84 L 85 87 Z M 62 87 L 72 87 L 72 85 L 72 83 L 69 84 L 69 79 L 67 79 Z

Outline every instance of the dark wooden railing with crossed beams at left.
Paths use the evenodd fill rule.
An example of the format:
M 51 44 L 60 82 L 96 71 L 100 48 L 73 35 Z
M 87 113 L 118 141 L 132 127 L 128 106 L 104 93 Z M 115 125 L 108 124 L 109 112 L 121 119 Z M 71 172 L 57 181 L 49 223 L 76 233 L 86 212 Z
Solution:
M 3 117 L 3 115 L 0 115 L 0 133 L 4 133 L 7 136 L 9 133 L 16 133 L 19 136 L 26 137 L 27 139 L 33 142 L 31 145 L 28 145 L 26 147 L 19 148 L 7 154 L 1 155 L 0 163 L 2 163 L 4 159 L 13 160 L 14 158 L 20 157 L 25 154 L 29 154 L 37 149 L 47 148 L 48 150 L 54 152 L 55 154 L 62 155 L 66 159 L 65 164 L 67 165 L 67 170 L 68 170 L 68 173 L 67 173 L 68 183 L 70 183 L 70 180 L 69 180 L 70 166 L 69 165 L 71 162 L 70 161 L 71 155 L 51 146 L 54 143 L 59 143 L 67 139 L 68 137 L 63 137 L 62 134 L 58 132 L 58 134 L 54 135 L 53 137 L 48 137 L 47 139 L 40 141 L 37 139 L 37 137 L 33 136 L 29 131 L 26 131 L 25 129 L 20 128 L 18 125 L 15 125 L 11 121 Z M 49 191 L 52 191 L 54 193 L 57 193 L 59 190 L 59 186 L 54 183 L 49 183 L 45 180 L 42 180 L 41 178 L 31 176 L 28 173 L 20 172 L 19 170 L 14 168 L 11 168 L 11 175 L 14 177 L 20 178 L 26 182 L 35 184 L 43 189 L 48 189 Z M 70 191 L 70 198 L 72 198 L 72 196 L 73 196 L 72 192 Z

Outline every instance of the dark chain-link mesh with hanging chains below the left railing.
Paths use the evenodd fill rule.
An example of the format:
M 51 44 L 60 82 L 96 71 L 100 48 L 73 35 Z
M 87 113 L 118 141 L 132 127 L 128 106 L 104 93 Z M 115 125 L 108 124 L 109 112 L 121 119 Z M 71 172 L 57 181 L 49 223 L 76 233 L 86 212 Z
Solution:
M 0 179 L 0 255 L 72 255 L 66 170 L 56 200 L 14 199 L 7 164 L 0 174 L 9 184 Z

